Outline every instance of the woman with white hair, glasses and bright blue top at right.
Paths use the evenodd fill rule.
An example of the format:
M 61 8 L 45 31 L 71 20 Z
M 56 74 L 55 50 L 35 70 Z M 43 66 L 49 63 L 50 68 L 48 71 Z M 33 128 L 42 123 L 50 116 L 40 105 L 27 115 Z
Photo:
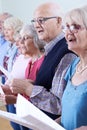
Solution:
M 65 75 L 61 125 L 66 130 L 87 126 L 87 8 L 68 12 L 64 19 L 68 48 L 76 53 Z

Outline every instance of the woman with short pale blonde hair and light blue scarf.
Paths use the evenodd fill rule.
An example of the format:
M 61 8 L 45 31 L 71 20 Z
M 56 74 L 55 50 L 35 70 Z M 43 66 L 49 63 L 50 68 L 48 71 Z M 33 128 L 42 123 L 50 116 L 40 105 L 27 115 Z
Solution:
M 22 28 L 22 21 L 16 17 L 10 17 L 4 21 L 4 37 L 8 41 L 8 47 L 4 57 L 3 66 L 9 72 L 12 70 L 14 59 L 18 53 L 15 45 L 15 37 Z

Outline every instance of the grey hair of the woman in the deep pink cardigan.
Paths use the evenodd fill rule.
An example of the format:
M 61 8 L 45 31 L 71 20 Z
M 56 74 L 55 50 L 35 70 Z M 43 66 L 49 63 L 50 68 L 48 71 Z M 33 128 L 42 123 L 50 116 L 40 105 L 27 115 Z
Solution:
M 34 42 L 34 45 L 39 49 L 39 50 L 44 50 L 44 45 L 45 45 L 45 42 L 44 41 L 41 41 L 39 40 L 38 38 L 38 35 L 37 35 L 37 32 L 34 28 L 33 25 L 24 25 L 23 28 L 21 29 L 20 31 L 20 35 L 23 36 L 23 35 L 29 35 L 30 37 L 33 38 L 33 42 Z

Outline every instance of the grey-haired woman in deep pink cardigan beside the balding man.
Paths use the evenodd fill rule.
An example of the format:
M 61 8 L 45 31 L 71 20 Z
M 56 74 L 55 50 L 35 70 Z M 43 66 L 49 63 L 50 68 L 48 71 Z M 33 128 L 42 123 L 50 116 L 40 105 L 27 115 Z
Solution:
M 29 73 L 31 73 L 33 77 L 31 76 L 26 78 L 32 79 L 33 81 L 36 79 L 37 72 L 44 59 L 44 44 L 45 43 L 43 41 L 39 40 L 33 25 L 23 26 L 20 31 L 19 46 L 21 48 L 22 55 L 24 55 L 24 58 L 31 58 L 31 61 L 27 66 L 26 73 L 28 73 L 27 76 L 29 76 Z

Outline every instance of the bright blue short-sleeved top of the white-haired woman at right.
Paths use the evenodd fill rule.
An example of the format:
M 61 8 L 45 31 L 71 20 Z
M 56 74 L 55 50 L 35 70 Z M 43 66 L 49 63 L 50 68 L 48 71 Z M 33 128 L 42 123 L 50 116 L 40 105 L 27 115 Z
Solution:
M 62 98 L 61 124 L 67 130 L 87 125 L 87 81 L 80 85 L 74 85 L 71 81 L 78 62 L 77 58 L 65 76 L 67 86 Z

